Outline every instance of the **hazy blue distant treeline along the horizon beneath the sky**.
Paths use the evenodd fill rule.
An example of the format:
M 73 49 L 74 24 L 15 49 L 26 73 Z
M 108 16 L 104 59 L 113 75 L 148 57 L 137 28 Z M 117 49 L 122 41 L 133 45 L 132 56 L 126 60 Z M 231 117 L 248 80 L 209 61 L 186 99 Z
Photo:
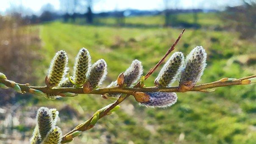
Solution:
M 141 11 L 141 10 L 125 10 L 125 11 L 109 11 L 101 13 L 92 13 L 92 11 L 87 11 L 84 14 L 73 13 L 73 14 L 58 14 L 52 11 L 43 11 L 41 15 L 37 16 L 35 14 L 31 16 L 26 16 L 24 19 L 28 24 L 35 24 L 41 22 L 49 22 L 56 19 L 63 19 L 64 22 L 75 22 L 76 19 L 86 19 L 87 23 L 93 23 L 95 17 L 132 17 L 132 16 L 146 16 L 146 15 L 160 15 L 160 14 L 182 14 L 182 13 L 198 13 L 198 12 L 216 12 L 216 10 L 203 10 L 203 9 L 168 9 L 164 11 Z

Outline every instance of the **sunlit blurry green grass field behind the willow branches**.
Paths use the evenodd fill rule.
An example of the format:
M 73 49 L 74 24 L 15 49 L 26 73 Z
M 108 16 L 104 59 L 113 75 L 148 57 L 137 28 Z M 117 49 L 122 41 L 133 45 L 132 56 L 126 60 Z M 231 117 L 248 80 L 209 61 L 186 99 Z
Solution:
M 142 19 L 150 22 L 151 17 Z M 163 22 L 159 17 L 152 19 Z M 218 19 L 211 20 L 214 21 L 203 19 L 199 22 L 205 25 L 219 22 Z M 100 58 L 106 60 L 108 75 L 103 86 L 115 80 L 134 59 L 142 61 L 145 75 L 181 32 L 178 28 L 115 28 L 62 22 L 34 27 L 39 28 L 42 43 L 37 52 L 43 58 L 35 62 L 37 67 L 34 71 L 40 78 L 40 85 L 44 84 L 47 67 L 58 50 L 68 53 L 72 73 L 75 55 L 81 47 L 89 50 L 92 62 Z M 255 41 L 241 40 L 239 34 L 234 32 L 187 29 L 175 51 L 187 55 L 198 45 L 203 46 L 208 54 L 208 65 L 199 83 L 256 73 Z M 159 69 L 146 81 L 146 86 L 153 86 L 158 72 Z M 59 110 L 60 122 L 57 125 L 66 133 L 111 101 L 102 99 L 100 95 L 83 94 L 53 101 L 29 97 L 28 103 Z M 119 111 L 100 119 L 93 129 L 75 138 L 74 143 L 253 144 L 256 141 L 255 103 L 256 85 L 218 88 L 211 93 L 178 93 L 178 102 L 165 109 L 141 107 L 130 97 L 121 104 Z M 25 129 L 26 136 L 31 134 L 32 128 Z

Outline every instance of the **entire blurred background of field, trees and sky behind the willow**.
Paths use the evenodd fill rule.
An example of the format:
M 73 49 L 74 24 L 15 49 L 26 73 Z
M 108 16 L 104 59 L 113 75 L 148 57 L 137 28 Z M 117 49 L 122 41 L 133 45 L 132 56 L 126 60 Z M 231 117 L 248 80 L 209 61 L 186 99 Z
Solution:
M 92 62 L 106 60 L 107 86 L 134 59 L 142 61 L 145 75 L 183 28 L 175 51 L 187 55 L 202 45 L 208 54 L 199 83 L 256 74 L 255 0 L 1 0 L 0 72 L 44 86 L 58 50 L 68 53 L 72 72 L 75 55 L 86 47 Z M 158 72 L 146 86 L 153 86 Z M 28 143 L 40 106 L 56 108 L 57 125 L 67 133 L 109 103 L 100 95 L 49 101 L 0 89 L 0 143 Z M 129 97 L 72 143 L 206 142 L 256 143 L 256 85 L 178 93 L 178 102 L 166 109 L 141 107 Z

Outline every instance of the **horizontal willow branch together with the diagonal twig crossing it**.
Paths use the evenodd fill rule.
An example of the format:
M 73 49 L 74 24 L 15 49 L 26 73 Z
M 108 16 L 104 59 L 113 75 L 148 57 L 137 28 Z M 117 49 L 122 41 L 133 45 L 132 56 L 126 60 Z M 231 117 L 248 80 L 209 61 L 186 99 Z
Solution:
M 161 58 L 161 60 L 147 72 L 145 75 L 145 79 L 149 78 L 150 75 L 163 63 L 165 58 L 174 50 L 176 44 L 178 44 L 179 40 L 181 39 L 182 34 L 184 33 L 184 30 L 180 33 L 174 44 L 169 48 L 167 53 Z M 6 77 L 5 77 L 6 78 Z M 165 88 L 158 88 L 156 86 L 153 87 L 143 87 L 140 84 L 140 81 L 134 86 L 134 88 L 122 88 L 120 86 L 115 86 L 115 87 L 110 87 L 110 88 L 100 88 L 100 89 L 95 89 L 92 91 L 89 91 L 88 93 L 85 93 L 83 91 L 83 88 L 74 88 L 74 87 L 64 87 L 64 88 L 49 88 L 47 86 L 30 86 L 28 83 L 27 84 L 20 84 L 20 83 L 15 83 L 14 81 L 5 79 L 5 78 L 0 78 L 0 83 L 3 83 L 4 85 L 8 87 L 14 88 L 15 86 L 19 86 L 20 90 L 19 92 L 25 93 L 25 92 L 31 92 L 31 89 L 39 90 L 42 91 L 42 93 L 45 94 L 55 94 L 55 95 L 60 95 L 64 97 L 62 93 L 65 92 L 70 92 L 74 94 L 106 94 L 106 93 L 122 93 L 126 94 L 124 96 L 120 96 L 114 103 L 111 103 L 110 105 L 107 105 L 104 108 L 101 108 L 97 112 L 99 113 L 98 119 L 102 118 L 103 116 L 111 114 L 111 110 L 115 108 L 118 104 L 120 104 L 123 100 L 128 98 L 130 95 L 134 95 L 136 91 L 140 92 L 156 92 L 156 91 L 161 91 L 161 92 L 186 92 L 186 91 L 200 91 L 200 92 L 210 92 L 214 91 L 214 88 L 217 87 L 223 87 L 223 86 L 232 86 L 232 85 L 243 85 L 243 84 L 250 84 L 251 78 L 256 78 L 256 75 L 251 75 L 248 77 L 244 78 L 239 78 L 239 79 L 232 79 L 232 78 L 222 78 L 220 80 L 211 82 L 211 83 L 204 83 L 200 85 L 195 85 L 191 89 L 187 89 L 186 91 L 181 90 L 180 87 L 165 87 Z M 96 113 L 97 113 L 96 112 Z M 72 133 L 76 131 L 85 131 L 91 129 L 94 125 L 91 124 L 93 121 L 92 119 L 94 118 L 95 115 L 91 116 L 90 119 L 87 121 L 81 123 L 80 125 L 76 126 L 73 130 L 68 132 L 62 137 L 62 143 L 71 141 L 74 136 L 72 136 Z

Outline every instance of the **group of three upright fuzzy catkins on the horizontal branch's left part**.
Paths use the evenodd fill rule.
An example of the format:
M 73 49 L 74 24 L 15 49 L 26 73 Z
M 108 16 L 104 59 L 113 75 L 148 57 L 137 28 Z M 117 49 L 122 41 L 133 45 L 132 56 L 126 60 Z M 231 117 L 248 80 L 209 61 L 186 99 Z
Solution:
M 75 57 L 73 75 L 65 78 L 67 74 L 67 53 L 63 50 L 58 51 L 48 69 L 47 86 L 51 87 L 81 87 L 88 82 L 89 86 L 96 88 L 101 85 L 107 75 L 106 61 L 100 59 L 91 64 L 91 56 L 86 48 L 81 48 Z M 69 75 L 68 75 L 69 76 Z M 54 100 L 60 96 L 56 94 L 46 94 L 47 99 Z

